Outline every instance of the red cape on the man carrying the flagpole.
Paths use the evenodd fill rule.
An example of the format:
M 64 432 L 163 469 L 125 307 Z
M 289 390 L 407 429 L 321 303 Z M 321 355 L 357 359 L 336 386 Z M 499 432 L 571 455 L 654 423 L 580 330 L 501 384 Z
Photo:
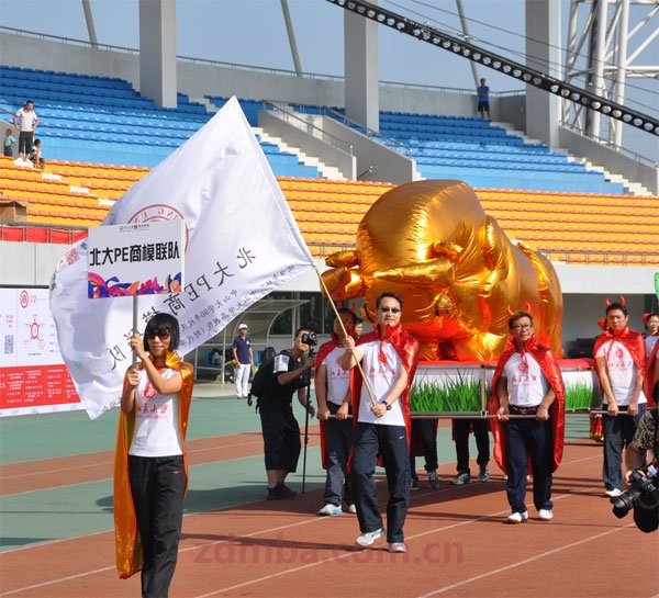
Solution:
M 387 326 L 386 338 L 393 345 L 395 352 L 401 358 L 401 363 L 407 372 L 407 385 L 401 393 L 399 400 L 405 420 L 405 429 L 407 431 L 407 448 L 410 448 L 412 418 L 410 417 L 410 388 L 414 382 L 414 373 L 418 364 L 418 341 L 410 334 L 403 330 L 402 325 Z M 380 340 L 380 327 L 373 326 L 373 331 L 359 337 L 357 346 Z M 357 428 L 359 419 L 359 399 L 361 397 L 361 373 L 357 368 L 350 370 L 350 390 L 353 392 L 353 424 Z M 378 460 L 379 464 L 380 460 Z

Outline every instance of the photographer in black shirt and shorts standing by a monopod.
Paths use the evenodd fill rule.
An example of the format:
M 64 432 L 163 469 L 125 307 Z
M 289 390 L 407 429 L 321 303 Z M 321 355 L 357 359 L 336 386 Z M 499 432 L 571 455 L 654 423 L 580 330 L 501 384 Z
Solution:
M 272 376 L 259 399 L 259 414 L 264 436 L 264 456 L 268 475 L 268 500 L 294 498 L 298 493 L 286 484 L 286 477 L 298 467 L 302 449 L 300 425 L 293 416 L 293 393 L 313 417 L 315 409 L 306 402 L 306 386 L 311 380 L 314 358 L 310 354 L 310 340 L 314 336 L 309 328 L 295 332 L 292 349 L 286 349 L 275 357 Z

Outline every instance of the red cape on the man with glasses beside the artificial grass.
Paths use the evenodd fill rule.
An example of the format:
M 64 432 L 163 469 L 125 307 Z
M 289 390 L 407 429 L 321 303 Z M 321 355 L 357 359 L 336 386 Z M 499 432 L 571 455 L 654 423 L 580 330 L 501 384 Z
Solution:
M 551 354 L 547 347 L 538 345 L 535 337 L 526 342 L 525 351 L 529 352 L 533 358 L 538 362 L 543 374 L 547 379 L 547 382 L 556 394 L 556 399 L 549 407 L 549 417 L 551 421 L 551 437 L 554 439 L 554 469 L 558 470 L 562 460 L 563 443 L 566 436 L 566 394 L 562 383 L 562 376 L 560 375 L 560 369 L 556 358 Z M 496 396 L 496 384 L 501 377 L 504 365 L 507 360 L 517 352 L 513 338 L 509 337 L 507 343 L 503 353 L 499 357 L 496 362 L 496 369 L 494 370 L 494 376 L 492 379 L 492 390 L 490 394 L 490 400 L 488 402 L 488 414 L 496 415 L 499 410 L 499 397 Z M 494 438 L 494 460 L 503 473 L 507 474 L 507 454 L 505 443 L 505 428 L 501 426 L 501 422 L 496 418 L 490 419 L 490 429 L 492 430 L 492 437 Z

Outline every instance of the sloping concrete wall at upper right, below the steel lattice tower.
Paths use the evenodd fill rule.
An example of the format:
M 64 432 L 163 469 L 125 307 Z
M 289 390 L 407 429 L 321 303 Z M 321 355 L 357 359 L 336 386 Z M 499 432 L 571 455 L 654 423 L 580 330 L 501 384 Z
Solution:
M 563 126 L 558 128 L 559 144 L 576 156 L 588 159 L 611 172 L 619 172 L 625 179 L 643 184 L 655 195 L 659 195 L 659 168 L 641 162 L 622 151 L 603 146 Z

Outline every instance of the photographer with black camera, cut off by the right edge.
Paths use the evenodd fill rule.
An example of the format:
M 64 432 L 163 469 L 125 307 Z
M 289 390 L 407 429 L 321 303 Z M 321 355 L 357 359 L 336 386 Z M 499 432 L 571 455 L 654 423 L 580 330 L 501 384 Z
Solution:
M 648 451 L 651 451 L 651 455 L 648 454 L 648 463 L 652 463 L 655 471 L 657 470 L 657 459 L 659 456 L 659 410 L 658 407 L 654 407 L 649 409 L 641 418 L 640 424 L 638 425 L 638 429 L 634 435 L 634 439 L 627 447 L 626 453 L 626 462 L 627 462 L 627 473 L 625 477 L 627 481 L 632 477 L 632 474 L 643 467 L 644 459 Z M 652 458 L 652 460 L 650 459 Z M 649 469 L 649 467 L 648 467 Z M 658 475 L 655 474 L 654 486 L 657 488 L 658 484 Z M 657 492 L 655 492 L 654 498 L 650 496 L 639 496 L 638 500 L 634 501 L 634 522 L 636 527 L 640 531 L 645 531 L 646 533 L 656 531 L 659 527 L 659 497 L 656 496 Z M 645 500 L 644 500 L 645 499 Z M 644 508 L 644 506 L 651 505 L 654 503 L 654 507 Z M 638 503 L 641 503 L 639 505 Z

